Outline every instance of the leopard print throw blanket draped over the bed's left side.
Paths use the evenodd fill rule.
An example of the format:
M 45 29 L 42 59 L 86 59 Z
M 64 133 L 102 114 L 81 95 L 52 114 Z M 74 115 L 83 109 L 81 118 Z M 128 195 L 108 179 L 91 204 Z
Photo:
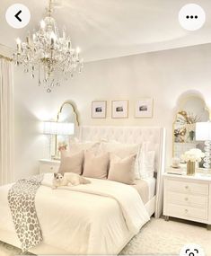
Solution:
M 35 208 L 35 196 L 43 174 L 22 179 L 8 192 L 8 202 L 16 234 L 22 243 L 22 252 L 42 242 L 40 223 Z

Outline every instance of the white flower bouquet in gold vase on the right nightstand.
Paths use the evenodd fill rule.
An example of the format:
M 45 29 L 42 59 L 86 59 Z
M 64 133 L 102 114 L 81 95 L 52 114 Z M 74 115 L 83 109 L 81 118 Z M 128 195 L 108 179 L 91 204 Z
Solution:
M 205 154 L 198 148 L 192 148 L 181 155 L 181 160 L 187 163 L 187 175 L 194 175 L 196 163 L 200 163 Z

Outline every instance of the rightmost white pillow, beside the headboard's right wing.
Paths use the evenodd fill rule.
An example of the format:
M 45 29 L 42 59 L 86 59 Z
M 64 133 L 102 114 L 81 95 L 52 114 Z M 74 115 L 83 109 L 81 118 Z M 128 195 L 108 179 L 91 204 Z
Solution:
M 139 157 L 139 174 L 141 179 L 154 177 L 155 151 L 148 151 L 149 143 L 144 142 Z

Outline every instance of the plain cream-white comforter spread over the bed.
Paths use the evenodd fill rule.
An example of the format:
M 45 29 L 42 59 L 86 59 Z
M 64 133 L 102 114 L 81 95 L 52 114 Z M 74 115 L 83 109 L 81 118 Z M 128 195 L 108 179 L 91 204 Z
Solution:
M 70 254 L 117 254 L 149 220 L 140 196 L 128 185 L 90 179 L 91 184 L 52 190 L 52 178 L 45 174 L 36 196 L 45 244 Z M 0 187 L 0 229 L 15 234 L 10 187 Z

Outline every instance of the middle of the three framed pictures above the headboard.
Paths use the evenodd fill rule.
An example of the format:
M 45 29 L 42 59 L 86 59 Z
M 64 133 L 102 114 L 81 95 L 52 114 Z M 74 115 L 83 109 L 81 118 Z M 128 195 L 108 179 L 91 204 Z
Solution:
M 128 101 L 112 101 L 111 102 L 112 119 L 127 119 L 128 118 Z

